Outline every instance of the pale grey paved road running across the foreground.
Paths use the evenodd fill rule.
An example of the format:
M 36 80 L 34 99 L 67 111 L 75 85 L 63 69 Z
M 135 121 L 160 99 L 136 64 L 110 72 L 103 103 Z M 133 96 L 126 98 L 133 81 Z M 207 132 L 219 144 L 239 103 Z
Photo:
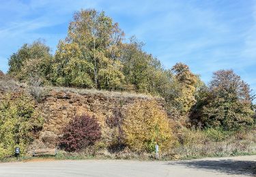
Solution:
M 256 156 L 193 161 L 32 161 L 0 163 L 0 176 L 255 176 Z

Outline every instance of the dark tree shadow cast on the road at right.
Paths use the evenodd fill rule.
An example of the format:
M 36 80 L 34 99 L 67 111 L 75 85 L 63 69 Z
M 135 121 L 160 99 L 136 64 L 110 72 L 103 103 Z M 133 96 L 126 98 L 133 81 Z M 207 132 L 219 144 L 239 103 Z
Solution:
M 189 168 L 204 169 L 209 171 L 218 171 L 225 174 L 256 174 L 256 161 L 235 161 L 235 160 L 197 160 L 197 161 L 179 161 L 171 162 L 168 165 L 184 165 Z

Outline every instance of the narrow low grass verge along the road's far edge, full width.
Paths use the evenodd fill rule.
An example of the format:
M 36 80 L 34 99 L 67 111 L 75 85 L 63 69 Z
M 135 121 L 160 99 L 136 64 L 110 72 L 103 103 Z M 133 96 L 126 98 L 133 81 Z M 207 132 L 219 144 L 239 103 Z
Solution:
M 177 161 L 177 160 L 192 160 L 192 159 L 201 159 L 205 157 L 236 157 L 236 156 L 248 156 L 248 155 L 256 155 L 256 151 L 254 152 L 246 152 L 246 151 L 233 151 L 229 152 L 216 152 L 208 155 L 185 155 L 180 156 L 179 158 L 169 157 L 165 154 L 160 153 L 160 161 Z M 118 152 L 118 153 L 109 153 L 106 152 L 104 154 L 88 154 L 87 152 L 65 152 L 63 150 L 59 150 L 57 155 L 44 155 L 39 157 L 31 157 L 31 155 L 23 155 L 19 158 L 18 161 L 49 161 L 49 160 L 89 160 L 89 159 L 112 159 L 112 160 L 137 160 L 137 161 L 155 161 L 154 153 L 137 153 L 137 152 Z M 4 159 L 0 159 L 0 163 L 8 163 L 8 162 L 16 162 L 16 157 L 6 157 Z M 256 170 L 256 167 L 255 167 Z

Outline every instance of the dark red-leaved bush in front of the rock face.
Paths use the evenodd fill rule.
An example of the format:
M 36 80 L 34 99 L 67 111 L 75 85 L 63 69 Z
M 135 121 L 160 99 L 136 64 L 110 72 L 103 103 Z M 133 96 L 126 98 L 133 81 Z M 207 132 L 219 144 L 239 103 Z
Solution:
M 94 116 L 76 116 L 64 129 L 59 146 L 68 152 L 79 151 L 94 145 L 100 137 L 100 125 Z

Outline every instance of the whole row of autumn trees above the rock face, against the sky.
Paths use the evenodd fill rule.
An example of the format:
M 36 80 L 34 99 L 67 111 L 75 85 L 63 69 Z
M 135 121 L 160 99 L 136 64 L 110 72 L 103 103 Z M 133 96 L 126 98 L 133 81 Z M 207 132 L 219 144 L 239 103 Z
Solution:
M 81 10 L 74 13 L 55 54 L 40 40 L 24 44 L 10 56 L 8 74 L 21 82 L 160 96 L 170 117 L 189 116 L 197 127 L 239 129 L 253 124 L 250 86 L 233 70 L 216 71 L 206 85 L 184 63 L 165 69 L 143 46 L 136 37 L 126 40 L 118 23 L 104 12 Z

